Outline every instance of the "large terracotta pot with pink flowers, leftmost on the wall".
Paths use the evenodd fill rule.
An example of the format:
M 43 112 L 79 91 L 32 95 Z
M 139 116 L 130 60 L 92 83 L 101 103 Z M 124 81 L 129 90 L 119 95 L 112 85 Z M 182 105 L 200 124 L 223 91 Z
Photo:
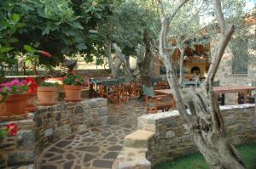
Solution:
M 28 87 L 25 81 L 15 79 L 11 82 L 0 85 L 0 94 L 2 95 L 3 110 L 0 116 L 10 117 L 12 115 L 23 115 L 26 109 L 26 100 L 28 97 Z

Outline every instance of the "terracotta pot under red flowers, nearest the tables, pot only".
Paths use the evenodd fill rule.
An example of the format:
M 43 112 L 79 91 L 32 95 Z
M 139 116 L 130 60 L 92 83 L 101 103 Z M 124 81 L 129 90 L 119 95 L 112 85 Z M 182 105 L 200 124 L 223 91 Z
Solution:
M 64 85 L 64 90 L 65 90 L 65 96 L 66 96 L 65 100 L 67 102 L 79 102 L 82 100 L 81 85 Z

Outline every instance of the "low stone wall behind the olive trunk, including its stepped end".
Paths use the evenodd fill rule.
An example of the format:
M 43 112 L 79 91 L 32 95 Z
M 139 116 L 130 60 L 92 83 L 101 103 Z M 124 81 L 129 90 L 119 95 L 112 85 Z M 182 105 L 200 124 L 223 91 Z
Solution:
M 221 106 L 220 110 L 233 144 L 256 141 L 254 104 L 225 105 Z M 124 149 L 119 153 L 113 168 L 133 169 L 139 166 L 148 169 L 160 162 L 198 151 L 192 136 L 185 131 L 183 124 L 184 121 L 177 110 L 138 117 L 138 130 L 125 137 Z M 148 132 L 151 137 L 143 137 L 143 132 Z M 142 141 L 143 146 L 138 147 L 137 143 Z M 147 150 L 143 150 L 146 152 L 144 154 L 135 153 L 131 158 L 127 149 L 137 149 L 132 150 L 133 152 Z M 137 158 L 143 161 L 136 161 Z

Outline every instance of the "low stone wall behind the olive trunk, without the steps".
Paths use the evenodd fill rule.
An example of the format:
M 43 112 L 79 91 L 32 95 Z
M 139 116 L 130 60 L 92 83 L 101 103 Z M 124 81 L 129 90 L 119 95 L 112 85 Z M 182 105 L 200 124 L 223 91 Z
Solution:
M 224 124 L 233 144 L 256 141 L 254 104 L 221 106 Z M 177 110 L 138 117 L 138 129 L 154 131 L 149 140 L 147 159 L 152 165 L 197 151 L 193 138 L 185 131 Z

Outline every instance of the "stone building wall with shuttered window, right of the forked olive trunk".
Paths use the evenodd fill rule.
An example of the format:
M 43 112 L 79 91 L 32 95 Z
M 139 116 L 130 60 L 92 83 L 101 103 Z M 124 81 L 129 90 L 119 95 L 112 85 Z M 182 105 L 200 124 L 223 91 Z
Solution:
M 220 85 L 251 85 L 256 81 L 256 8 L 245 19 L 247 34 L 232 38 L 224 52 L 216 79 Z

